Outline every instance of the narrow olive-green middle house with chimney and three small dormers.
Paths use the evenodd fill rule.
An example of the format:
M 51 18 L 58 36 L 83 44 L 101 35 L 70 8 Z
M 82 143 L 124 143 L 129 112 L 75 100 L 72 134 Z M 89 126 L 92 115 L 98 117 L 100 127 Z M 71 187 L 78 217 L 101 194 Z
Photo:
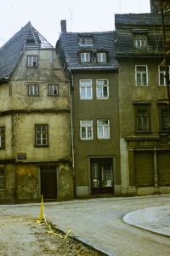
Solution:
M 56 49 L 71 79 L 77 197 L 121 195 L 115 32 L 66 32 Z

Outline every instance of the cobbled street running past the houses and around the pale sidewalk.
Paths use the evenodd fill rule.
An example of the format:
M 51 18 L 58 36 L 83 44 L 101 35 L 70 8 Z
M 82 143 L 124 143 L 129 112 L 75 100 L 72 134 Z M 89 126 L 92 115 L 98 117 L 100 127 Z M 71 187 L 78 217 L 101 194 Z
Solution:
M 170 255 L 168 234 L 153 233 L 169 229 L 169 208 L 170 195 L 44 202 L 46 218 L 59 230 L 71 228 L 72 236 L 100 251 L 126 256 Z M 31 218 L 38 217 L 39 211 L 40 204 L 0 207 L 1 214 Z

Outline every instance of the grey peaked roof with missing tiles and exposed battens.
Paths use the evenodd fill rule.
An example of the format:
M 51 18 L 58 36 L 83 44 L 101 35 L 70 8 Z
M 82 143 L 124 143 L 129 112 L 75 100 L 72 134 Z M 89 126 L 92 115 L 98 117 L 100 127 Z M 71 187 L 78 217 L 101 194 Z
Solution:
M 53 48 L 28 22 L 0 48 L 0 81 L 8 80 L 20 61 L 24 49 Z

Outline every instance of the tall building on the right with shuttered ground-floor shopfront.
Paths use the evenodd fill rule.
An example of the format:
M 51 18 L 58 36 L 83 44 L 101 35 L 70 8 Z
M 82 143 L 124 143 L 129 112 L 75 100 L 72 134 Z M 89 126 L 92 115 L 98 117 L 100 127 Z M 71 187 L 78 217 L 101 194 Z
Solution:
M 122 195 L 170 193 L 169 101 L 159 5 L 116 15 Z M 169 17 L 165 20 L 169 31 Z M 168 75 L 169 75 L 169 66 Z

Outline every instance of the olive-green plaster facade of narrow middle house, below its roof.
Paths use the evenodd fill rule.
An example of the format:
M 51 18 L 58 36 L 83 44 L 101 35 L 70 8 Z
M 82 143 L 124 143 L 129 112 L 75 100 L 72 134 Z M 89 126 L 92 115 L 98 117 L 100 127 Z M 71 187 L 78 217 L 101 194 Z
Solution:
M 82 79 L 92 79 L 93 98 L 90 100 L 80 98 L 80 80 Z M 97 98 L 97 79 L 108 79 L 109 97 L 107 99 Z M 91 160 L 94 159 L 111 159 L 113 186 L 109 193 L 107 191 L 103 193 L 121 195 L 117 72 L 113 70 L 107 72 L 74 72 L 73 88 L 71 97 L 76 196 L 89 197 L 93 195 Z M 93 121 L 93 139 L 83 140 L 81 138 L 80 122 L 84 119 Z M 98 119 L 110 120 L 110 138 L 98 138 Z M 100 195 L 103 193 L 102 191 L 99 192 Z M 94 195 L 96 195 L 95 192 Z

